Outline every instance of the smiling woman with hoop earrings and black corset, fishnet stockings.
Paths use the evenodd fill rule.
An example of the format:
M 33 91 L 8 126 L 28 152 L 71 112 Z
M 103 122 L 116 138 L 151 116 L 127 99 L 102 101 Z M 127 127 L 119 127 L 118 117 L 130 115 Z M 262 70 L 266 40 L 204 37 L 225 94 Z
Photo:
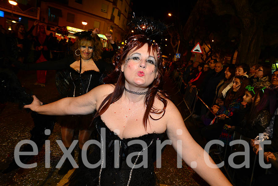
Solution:
M 18 64 L 18 66 L 25 70 L 62 70 L 58 72 L 59 78 L 56 81 L 57 89 L 62 97 L 77 97 L 86 94 L 101 84 L 105 71 L 111 68 L 101 59 L 102 44 L 95 33 L 97 33 L 96 29 L 75 34 L 77 40 L 74 43 L 74 56 L 67 56 L 60 61 L 45 61 L 32 65 Z M 108 39 L 111 42 L 112 37 L 110 36 Z M 115 50 L 116 44 L 112 44 L 112 47 Z M 74 130 L 79 131 L 79 165 L 82 163 L 81 149 L 84 143 L 89 140 L 93 130 L 89 126 L 92 116 L 92 114 L 83 116 L 72 115 L 61 116 L 58 119 L 61 125 L 62 142 L 67 149 L 73 142 Z M 72 156 L 74 156 L 74 151 Z M 72 168 L 70 161 L 66 159 L 58 174 L 64 175 Z

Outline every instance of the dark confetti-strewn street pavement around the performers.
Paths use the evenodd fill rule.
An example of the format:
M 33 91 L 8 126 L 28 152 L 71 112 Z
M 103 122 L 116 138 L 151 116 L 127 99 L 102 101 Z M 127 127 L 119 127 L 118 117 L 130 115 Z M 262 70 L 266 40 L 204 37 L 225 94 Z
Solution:
M 22 86 L 26 88 L 27 92 L 36 95 L 42 102 L 53 102 L 59 99 L 59 93 L 55 87 L 55 73 L 54 70 L 47 71 L 47 82 L 45 87 L 40 85 L 34 85 L 36 82 L 36 71 L 23 71 L 20 70 L 18 77 Z M 164 89 L 166 89 L 171 95 L 172 101 L 177 104 L 182 100 L 181 95 L 173 86 L 171 78 L 167 73 L 165 76 Z M 183 117 L 188 114 L 184 112 L 185 105 L 181 104 L 179 110 Z M 30 139 L 30 130 L 33 128 L 33 120 L 30 113 L 27 113 L 25 109 L 19 108 L 18 104 L 6 103 L 6 107 L 0 113 L 0 169 L 3 170 L 8 167 L 8 164 L 13 160 L 13 153 L 15 146 L 18 142 L 25 139 Z M 200 126 L 195 125 L 190 117 L 185 125 L 192 134 L 193 138 L 202 143 L 200 137 Z M 74 135 L 74 139 L 77 138 L 77 134 Z M 50 168 L 45 168 L 44 159 L 44 146 L 38 155 L 34 156 L 28 163 L 37 163 L 37 167 L 31 169 L 18 168 L 7 174 L 0 172 L 0 185 L 62 185 L 67 179 L 65 176 L 57 174 L 58 169 L 55 168 L 62 156 L 62 151 L 58 146 L 56 140 L 61 140 L 60 125 L 55 124 L 53 132 L 49 136 L 50 140 Z M 77 160 L 78 146 L 75 147 L 75 160 Z M 156 165 L 156 164 L 154 164 Z M 203 179 L 201 179 L 190 167 L 188 167 L 184 161 L 182 168 L 176 168 L 177 166 L 177 153 L 172 146 L 167 145 L 166 149 L 162 153 L 162 167 L 155 168 L 155 173 L 159 179 L 160 185 L 165 186 L 182 186 L 182 185 L 208 185 Z M 60 182 L 60 183 L 59 183 Z

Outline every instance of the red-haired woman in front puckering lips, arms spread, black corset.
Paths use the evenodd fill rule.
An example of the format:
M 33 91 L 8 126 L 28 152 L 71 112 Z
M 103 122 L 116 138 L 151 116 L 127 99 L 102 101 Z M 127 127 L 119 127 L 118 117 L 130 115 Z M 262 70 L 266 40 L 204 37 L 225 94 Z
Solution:
M 210 162 L 204 160 L 204 150 L 161 89 L 163 66 L 158 44 L 144 35 L 131 36 L 114 62 L 116 69 L 108 77 L 111 84 L 46 105 L 33 96 L 32 104 L 24 106 L 46 115 L 97 111 L 93 124 L 101 134 L 100 145 L 88 161 L 82 158 L 83 167 L 76 169 L 67 185 L 156 185 L 151 157 L 165 134 L 187 165 L 208 184 L 231 185 L 210 158 L 207 161 L 214 168 L 206 165 Z

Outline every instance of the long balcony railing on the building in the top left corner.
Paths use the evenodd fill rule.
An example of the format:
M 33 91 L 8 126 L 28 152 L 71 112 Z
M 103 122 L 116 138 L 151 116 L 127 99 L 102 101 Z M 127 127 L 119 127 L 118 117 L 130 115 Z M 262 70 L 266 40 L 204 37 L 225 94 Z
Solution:
M 25 11 L 21 10 L 19 6 L 12 6 L 8 1 L 0 1 L 0 9 L 4 11 L 11 12 L 15 14 L 23 15 L 26 17 L 31 17 L 34 19 L 39 19 L 39 8 L 31 7 Z

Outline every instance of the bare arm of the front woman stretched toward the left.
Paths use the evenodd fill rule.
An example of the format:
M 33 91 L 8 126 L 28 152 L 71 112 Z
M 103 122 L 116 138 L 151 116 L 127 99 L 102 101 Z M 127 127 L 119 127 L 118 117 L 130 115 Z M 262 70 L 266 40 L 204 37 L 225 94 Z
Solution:
M 90 114 L 96 109 L 97 100 L 103 98 L 103 92 L 107 92 L 107 86 L 109 85 L 100 85 L 84 95 L 63 98 L 46 105 L 42 105 L 42 102 L 36 96 L 33 96 L 34 100 L 32 104 L 25 105 L 24 108 L 30 108 L 32 111 L 44 115 L 64 116 Z

